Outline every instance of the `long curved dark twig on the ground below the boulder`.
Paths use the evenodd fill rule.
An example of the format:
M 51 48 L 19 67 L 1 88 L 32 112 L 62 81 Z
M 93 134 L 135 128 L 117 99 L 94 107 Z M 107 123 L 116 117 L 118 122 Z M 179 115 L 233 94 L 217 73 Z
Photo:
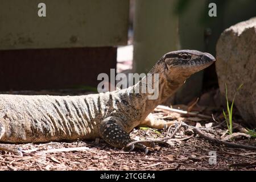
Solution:
M 230 143 L 230 142 L 226 142 L 226 141 L 218 140 L 216 138 L 209 137 L 208 135 L 205 135 L 201 130 L 199 130 L 197 128 L 194 128 L 193 131 L 196 134 L 198 134 L 200 137 L 202 137 L 204 139 L 207 139 L 210 142 L 225 144 L 226 146 L 234 147 L 234 148 L 245 148 L 247 150 L 256 150 L 256 147 L 254 147 L 254 146 L 246 146 L 246 145 L 243 145 L 243 144 Z

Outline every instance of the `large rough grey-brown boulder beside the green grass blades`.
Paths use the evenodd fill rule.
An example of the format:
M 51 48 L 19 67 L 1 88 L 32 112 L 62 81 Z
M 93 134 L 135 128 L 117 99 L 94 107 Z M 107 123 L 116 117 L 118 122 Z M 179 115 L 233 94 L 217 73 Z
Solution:
M 216 71 L 220 91 L 233 100 L 240 84 L 235 105 L 251 126 L 256 126 L 256 17 L 226 29 L 216 47 Z

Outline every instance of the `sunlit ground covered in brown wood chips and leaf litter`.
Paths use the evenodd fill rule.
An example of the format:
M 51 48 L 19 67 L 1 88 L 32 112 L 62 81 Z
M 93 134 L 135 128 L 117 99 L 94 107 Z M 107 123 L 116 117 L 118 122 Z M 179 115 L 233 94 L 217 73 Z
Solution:
M 20 94 L 44 94 L 44 92 Z M 192 104 L 193 109 L 189 106 L 177 106 L 178 109 L 184 109 L 181 107 L 196 111 L 201 106 Z M 212 110 L 204 109 L 200 113 L 210 115 Z M 214 119 L 204 119 L 155 109 L 153 114 L 155 119 L 173 121 L 175 125 L 163 130 L 137 128 L 130 134 L 133 139 L 164 139 L 170 137 L 180 122 L 185 125 L 179 128 L 173 138 L 166 140 L 169 146 L 156 144 L 154 148 L 148 148 L 147 155 L 142 151 L 126 152 L 113 148 L 101 139 L 28 143 L 18 145 L 22 148 L 22 157 L 10 152 L 0 152 L 0 170 L 255 170 L 256 151 L 229 148 L 209 142 L 193 132 L 192 129 L 196 126 L 210 137 L 256 146 L 256 139 L 249 135 L 237 135 L 228 139 L 226 123 L 219 114 L 221 112 L 215 110 L 214 113 Z M 239 115 L 234 118 L 237 123 L 241 121 Z M 236 125 L 234 133 L 241 133 L 243 129 L 241 125 Z

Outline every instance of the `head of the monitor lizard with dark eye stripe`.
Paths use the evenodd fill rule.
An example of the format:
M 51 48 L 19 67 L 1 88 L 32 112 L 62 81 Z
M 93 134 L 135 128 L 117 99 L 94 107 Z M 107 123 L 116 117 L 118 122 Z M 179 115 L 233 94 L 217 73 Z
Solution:
M 214 63 L 215 58 L 209 53 L 196 50 L 168 52 L 162 57 L 165 75 L 171 80 L 185 80 Z

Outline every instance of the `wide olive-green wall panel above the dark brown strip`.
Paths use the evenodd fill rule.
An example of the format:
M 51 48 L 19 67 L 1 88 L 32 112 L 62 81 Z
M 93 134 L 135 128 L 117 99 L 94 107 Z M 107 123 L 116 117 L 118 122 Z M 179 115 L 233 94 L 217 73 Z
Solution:
M 125 45 L 128 18 L 129 0 L 0 1 L 0 49 Z

